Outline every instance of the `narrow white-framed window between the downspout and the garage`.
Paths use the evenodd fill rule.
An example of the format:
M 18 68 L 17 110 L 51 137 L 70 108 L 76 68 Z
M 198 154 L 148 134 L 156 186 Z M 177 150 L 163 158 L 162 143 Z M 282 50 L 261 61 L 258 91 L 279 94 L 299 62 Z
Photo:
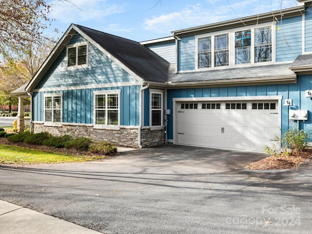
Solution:
M 150 124 L 151 127 L 163 125 L 163 90 L 150 89 Z

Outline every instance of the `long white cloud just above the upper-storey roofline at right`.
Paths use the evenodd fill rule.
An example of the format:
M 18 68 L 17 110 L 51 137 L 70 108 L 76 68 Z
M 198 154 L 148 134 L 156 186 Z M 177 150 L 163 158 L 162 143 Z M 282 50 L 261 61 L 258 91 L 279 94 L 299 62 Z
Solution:
M 180 11 L 144 20 L 144 29 L 169 32 L 279 10 L 281 2 L 282 9 L 294 5 L 293 0 L 241 0 L 239 2 L 227 0 L 222 1 L 222 4 L 219 0 L 207 0 L 207 2 L 209 6 L 205 8 L 201 4 L 187 5 Z

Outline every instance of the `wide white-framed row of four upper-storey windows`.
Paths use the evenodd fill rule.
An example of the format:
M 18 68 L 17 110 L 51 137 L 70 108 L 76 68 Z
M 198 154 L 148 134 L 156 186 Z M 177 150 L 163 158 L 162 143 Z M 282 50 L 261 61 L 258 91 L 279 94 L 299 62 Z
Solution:
M 274 28 L 263 23 L 195 36 L 196 69 L 274 61 Z

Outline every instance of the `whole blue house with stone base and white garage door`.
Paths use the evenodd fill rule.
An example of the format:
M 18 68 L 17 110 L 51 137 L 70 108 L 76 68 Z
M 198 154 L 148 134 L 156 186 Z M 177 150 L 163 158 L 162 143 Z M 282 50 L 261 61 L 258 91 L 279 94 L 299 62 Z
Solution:
M 264 151 L 281 129 L 309 130 L 312 1 L 298 1 L 141 43 L 72 24 L 19 93 L 32 131 Z

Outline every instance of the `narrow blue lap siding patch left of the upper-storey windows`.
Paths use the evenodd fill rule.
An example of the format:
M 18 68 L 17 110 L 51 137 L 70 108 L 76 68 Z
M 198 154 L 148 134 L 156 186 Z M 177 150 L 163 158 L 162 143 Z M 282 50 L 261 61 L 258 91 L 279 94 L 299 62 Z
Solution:
M 178 40 L 178 71 L 195 70 L 195 36 Z

